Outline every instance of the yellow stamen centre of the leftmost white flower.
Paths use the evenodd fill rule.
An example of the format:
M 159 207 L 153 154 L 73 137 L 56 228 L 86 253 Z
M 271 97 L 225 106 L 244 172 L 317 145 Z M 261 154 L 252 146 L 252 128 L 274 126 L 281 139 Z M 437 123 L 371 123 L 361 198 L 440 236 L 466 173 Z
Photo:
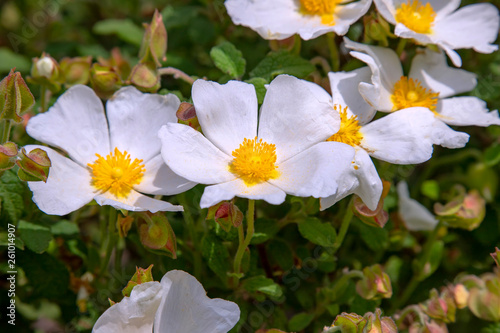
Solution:
M 92 173 L 92 185 L 101 192 L 111 192 L 117 198 L 126 198 L 132 186 L 141 182 L 146 171 L 142 160 L 131 160 L 125 151 L 115 148 L 106 158 L 96 154 L 97 159 L 87 164 Z

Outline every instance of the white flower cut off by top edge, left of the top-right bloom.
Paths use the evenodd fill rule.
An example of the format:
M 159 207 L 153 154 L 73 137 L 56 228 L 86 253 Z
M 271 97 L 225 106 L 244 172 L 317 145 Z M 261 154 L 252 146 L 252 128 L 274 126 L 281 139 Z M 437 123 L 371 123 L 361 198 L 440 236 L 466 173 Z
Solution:
M 299 34 L 308 40 L 330 31 L 345 35 L 371 3 L 372 0 L 227 0 L 225 5 L 235 24 L 257 31 L 264 39 Z

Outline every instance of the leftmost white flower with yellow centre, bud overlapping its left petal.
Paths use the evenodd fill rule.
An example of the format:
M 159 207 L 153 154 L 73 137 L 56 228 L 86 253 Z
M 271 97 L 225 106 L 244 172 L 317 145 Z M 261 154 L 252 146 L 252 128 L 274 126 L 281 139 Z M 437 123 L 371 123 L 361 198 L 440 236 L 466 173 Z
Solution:
M 46 113 L 30 119 L 28 134 L 68 154 L 45 150 L 52 162 L 44 182 L 28 182 L 33 201 L 47 214 L 65 215 L 93 199 L 130 211 L 182 211 L 182 206 L 152 199 L 172 195 L 195 184 L 177 176 L 160 156 L 158 129 L 176 122 L 179 99 L 120 89 L 104 108 L 92 89 L 77 85 Z M 109 127 L 108 127 L 109 126 Z

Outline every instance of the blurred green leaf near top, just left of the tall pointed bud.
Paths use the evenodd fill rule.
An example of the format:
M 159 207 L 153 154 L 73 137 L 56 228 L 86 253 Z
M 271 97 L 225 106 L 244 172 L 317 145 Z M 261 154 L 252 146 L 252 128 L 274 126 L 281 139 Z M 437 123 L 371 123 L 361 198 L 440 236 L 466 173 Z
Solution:
M 144 29 L 129 19 L 107 19 L 97 22 L 92 28 L 99 35 L 117 35 L 121 40 L 141 46 Z

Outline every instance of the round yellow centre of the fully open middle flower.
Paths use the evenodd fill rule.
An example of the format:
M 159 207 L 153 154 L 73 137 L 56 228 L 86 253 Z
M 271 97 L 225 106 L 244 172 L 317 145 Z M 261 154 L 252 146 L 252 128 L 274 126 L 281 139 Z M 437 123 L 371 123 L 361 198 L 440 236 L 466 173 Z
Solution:
M 244 139 L 239 148 L 232 153 L 234 159 L 229 164 L 229 171 L 252 186 L 269 179 L 278 178 L 276 166 L 276 146 L 263 142 L 262 139 Z

